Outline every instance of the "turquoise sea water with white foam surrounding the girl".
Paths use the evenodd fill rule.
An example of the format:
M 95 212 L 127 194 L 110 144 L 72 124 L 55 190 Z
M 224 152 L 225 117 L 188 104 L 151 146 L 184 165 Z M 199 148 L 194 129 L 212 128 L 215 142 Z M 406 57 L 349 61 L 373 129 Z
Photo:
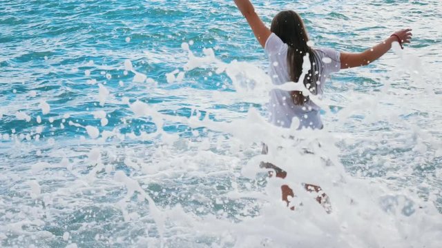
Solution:
M 325 130 L 295 134 L 317 156 L 256 116 L 266 57 L 233 1 L 0 0 L 1 246 L 440 247 L 442 3 L 254 2 L 342 51 L 413 28 L 404 53 L 327 82 Z M 298 211 L 262 141 L 285 147 Z

